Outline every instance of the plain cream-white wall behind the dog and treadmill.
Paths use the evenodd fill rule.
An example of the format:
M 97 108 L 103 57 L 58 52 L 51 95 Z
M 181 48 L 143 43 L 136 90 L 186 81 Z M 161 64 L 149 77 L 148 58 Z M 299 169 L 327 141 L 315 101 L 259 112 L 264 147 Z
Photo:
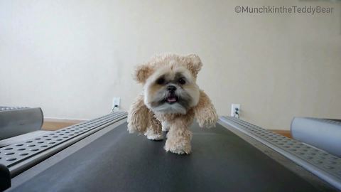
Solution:
M 333 14 L 237 14 L 234 7 L 334 7 Z M 0 0 L 0 105 L 47 117 L 124 110 L 141 90 L 134 65 L 197 53 L 198 85 L 219 114 L 288 129 L 294 116 L 341 117 L 340 2 Z

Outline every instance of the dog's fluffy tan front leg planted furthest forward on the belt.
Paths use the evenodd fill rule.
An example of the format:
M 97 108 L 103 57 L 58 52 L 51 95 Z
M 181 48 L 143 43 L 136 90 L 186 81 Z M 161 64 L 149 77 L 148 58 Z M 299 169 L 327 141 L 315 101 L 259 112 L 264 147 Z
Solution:
M 170 128 L 165 144 L 166 151 L 171 151 L 175 154 L 190 154 L 192 132 L 189 130 L 189 124 L 175 121 L 170 124 Z

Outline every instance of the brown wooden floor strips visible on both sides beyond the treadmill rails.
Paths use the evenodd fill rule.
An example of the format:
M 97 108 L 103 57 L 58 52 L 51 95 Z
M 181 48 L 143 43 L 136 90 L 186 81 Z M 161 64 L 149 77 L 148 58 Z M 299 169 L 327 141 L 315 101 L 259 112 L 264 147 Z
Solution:
M 83 122 L 83 121 L 80 121 L 80 120 L 55 120 L 55 119 L 46 119 L 43 123 L 43 129 L 44 130 L 50 130 L 50 131 L 54 131 L 54 130 L 57 130 L 57 129 L 62 129 L 64 127 L 69 127 L 73 124 L 78 124 L 80 122 Z M 281 134 L 285 137 L 289 137 L 289 138 L 292 138 L 291 137 L 291 132 L 290 131 L 287 131 L 287 130 L 270 130 L 272 132 L 275 132 L 277 134 Z

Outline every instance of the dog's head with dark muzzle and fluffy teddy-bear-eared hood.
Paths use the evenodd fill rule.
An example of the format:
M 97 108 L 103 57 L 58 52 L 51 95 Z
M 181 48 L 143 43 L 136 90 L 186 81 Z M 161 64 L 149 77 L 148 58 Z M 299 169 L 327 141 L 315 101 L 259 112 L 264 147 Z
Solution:
M 144 83 L 144 103 L 155 113 L 186 114 L 197 105 L 196 76 L 202 64 L 197 55 L 163 55 L 142 65 L 136 79 Z M 141 73 L 142 72 L 142 73 Z

